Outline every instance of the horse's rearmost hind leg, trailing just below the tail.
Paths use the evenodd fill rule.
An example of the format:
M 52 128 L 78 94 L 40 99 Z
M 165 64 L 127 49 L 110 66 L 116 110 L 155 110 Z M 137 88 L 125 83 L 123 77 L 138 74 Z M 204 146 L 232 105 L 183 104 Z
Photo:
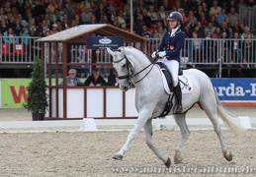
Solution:
M 223 153 L 223 156 L 225 157 L 225 159 L 227 161 L 231 161 L 232 154 L 231 154 L 231 152 L 228 152 L 227 148 L 225 147 L 224 140 L 223 140 L 223 137 L 222 137 L 221 131 L 220 131 L 220 125 L 217 121 L 216 106 L 212 105 L 211 107 L 208 107 L 208 106 L 206 106 L 206 107 L 202 106 L 202 107 L 206 111 L 211 122 L 213 123 L 213 129 L 214 129 L 214 132 L 216 133 L 216 136 L 218 137 L 218 140 L 220 142 L 221 151 Z

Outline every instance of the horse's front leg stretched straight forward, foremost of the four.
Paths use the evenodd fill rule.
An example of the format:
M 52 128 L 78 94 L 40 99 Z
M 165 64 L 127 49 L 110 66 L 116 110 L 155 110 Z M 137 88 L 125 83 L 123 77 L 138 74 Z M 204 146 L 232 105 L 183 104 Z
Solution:
M 128 151 L 128 146 L 130 142 L 136 137 L 139 130 L 145 125 L 145 122 L 151 115 L 151 113 L 148 113 L 148 112 L 149 112 L 148 110 L 139 112 L 137 121 L 128 134 L 128 139 L 126 144 L 124 145 L 123 148 L 121 148 L 121 150 L 116 155 L 113 156 L 114 159 L 119 159 L 119 160 L 123 159 L 124 154 Z

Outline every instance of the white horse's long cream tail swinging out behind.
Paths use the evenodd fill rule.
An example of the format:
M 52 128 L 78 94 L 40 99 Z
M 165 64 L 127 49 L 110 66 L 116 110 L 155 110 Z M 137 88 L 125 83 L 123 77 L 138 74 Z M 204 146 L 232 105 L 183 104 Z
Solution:
M 231 112 L 227 111 L 220 103 L 218 96 L 215 92 L 216 103 L 217 103 L 217 114 L 221 117 L 223 123 L 230 128 L 235 134 L 239 134 L 245 131 L 245 129 L 240 125 L 238 120 L 234 119 Z

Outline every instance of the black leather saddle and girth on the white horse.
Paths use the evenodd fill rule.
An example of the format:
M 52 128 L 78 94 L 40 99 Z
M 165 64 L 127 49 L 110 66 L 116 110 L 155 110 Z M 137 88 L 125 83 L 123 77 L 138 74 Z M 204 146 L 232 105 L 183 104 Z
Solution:
M 173 91 L 174 87 L 173 87 L 173 81 L 172 81 L 172 74 L 170 72 L 170 70 L 167 68 L 167 66 L 162 63 L 162 62 L 156 62 L 156 64 L 160 67 L 161 71 L 163 72 L 168 86 L 170 88 L 171 91 Z M 181 68 L 179 68 L 179 76 L 183 75 L 183 70 Z M 168 97 L 167 102 L 165 103 L 163 112 L 161 113 L 161 115 L 159 115 L 158 117 L 165 117 L 167 114 L 169 114 L 170 110 L 172 109 L 173 103 L 172 103 L 172 99 L 173 99 L 174 94 L 172 94 L 172 97 L 170 98 L 170 94 Z

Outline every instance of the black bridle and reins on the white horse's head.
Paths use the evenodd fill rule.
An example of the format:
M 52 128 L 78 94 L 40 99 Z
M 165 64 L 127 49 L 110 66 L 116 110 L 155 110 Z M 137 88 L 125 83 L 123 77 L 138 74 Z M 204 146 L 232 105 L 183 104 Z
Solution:
M 123 60 L 125 60 L 125 59 L 126 59 L 126 61 L 127 61 L 126 66 L 127 66 L 127 69 L 128 69 L 128 74 L 125 75 L 125 76 L 119 76 L 119 80 L 128 79 L 129 85 L 131 85 L 131 84 L 134 85 L 134 84 L 137 84 L 138 82 L 142 81 L 142 80 L 150 73 L 150 71 L 153 69 L 153 66 L 154 66 L 154 64 L 155 64 L 155 63 L 150 63 L 150 64 L 147 65 L 143 70 L 141 70 L 141 71 L 139 71 L 139 72 L 137 72 L 136 74 L 133 75 L 133 68 L 132 68 L 132 65 L 130 64 L 130 62 L 128 61 L 127 55 L 125 55 L 122 59 L 120 59 L 120 60 L 118 60 L 118 61 L 114 61 L 113 63 L 119 63 L 119 62 L 121 62 L 121 61 L 123 61 Z M 145 76 L 143 76 L 140 80 L 138 80 L 138 81 L 136 81 L 136 82 L 133 82 L 133 81 L 132 81 L 132 78 L 133 78 L 133 77 L 135 77 L 135 76 L 137 76 L 138 74 L 142 73 L 142 72 L 143 72 L 144 70 L 146 70 L 149 66 L 152 66 L 152 67 L 151 67 L 150 70 L 145 74 Z M 133 76 L 133 77 L 132 77 L 132 76 Z

